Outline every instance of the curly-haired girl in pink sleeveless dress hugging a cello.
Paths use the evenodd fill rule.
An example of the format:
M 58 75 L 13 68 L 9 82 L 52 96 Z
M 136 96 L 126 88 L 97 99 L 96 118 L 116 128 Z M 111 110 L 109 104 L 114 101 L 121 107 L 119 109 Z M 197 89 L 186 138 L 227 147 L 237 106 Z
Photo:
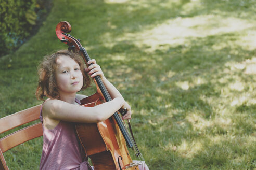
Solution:
M 83 160 L 85 153 L 76 136 L 74 122 L 97 123 L 108 119 L 120 108 L 127 108 L 123 119 L 131 119 L 131 107 L 119 91 L 105 78 L 96 61 L 84 68 L 78 54 L 60 50 L 46 56 L 39 66 L 39 84 L 36 96 L 47 96 L 41 106 L 43 151 L 40 169 L 93 169 Z M 95 107 L 80 106 L 84 95 L 76 94 L 89 87 L 91 78 L 100 76 L 113 100 Z M 89 137 L 89 136 L 88 136 Z M 140 167 L 142 169 L 142 167 Z M 146 166 L 146 169 L 147 166 Z

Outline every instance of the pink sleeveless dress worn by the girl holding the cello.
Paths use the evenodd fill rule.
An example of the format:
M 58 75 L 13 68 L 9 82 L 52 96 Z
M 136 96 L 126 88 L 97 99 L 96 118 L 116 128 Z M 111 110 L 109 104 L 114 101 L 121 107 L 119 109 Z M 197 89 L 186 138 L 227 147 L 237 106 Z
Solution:
M 75 99 L 76 103 L 80 101 Z M 43 106 L 43 104 L 42 104 Z M 42 106 L 40 120 L 43 125 Z M 88 164 L 83 148 L 76 136 L 72 122 L 60 121 L 54 129 L 45 129 L 43 125 L 43 150 L 40 169 L 92 170 Z

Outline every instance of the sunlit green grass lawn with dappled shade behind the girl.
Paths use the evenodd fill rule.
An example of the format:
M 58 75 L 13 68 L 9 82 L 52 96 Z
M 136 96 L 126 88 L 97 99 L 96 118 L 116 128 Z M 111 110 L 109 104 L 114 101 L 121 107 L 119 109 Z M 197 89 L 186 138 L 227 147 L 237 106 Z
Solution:
M 42 103 L 36 68 L 67 49 L 55 27 L 68 21 L 132 106 L 150 169 L 256 169 L 255 3 L 56 0 L 38 33 L 0 58 L 0 117 Z M 4 156 L 10 169 L 38 169 L 41 151 L 42 137 Z

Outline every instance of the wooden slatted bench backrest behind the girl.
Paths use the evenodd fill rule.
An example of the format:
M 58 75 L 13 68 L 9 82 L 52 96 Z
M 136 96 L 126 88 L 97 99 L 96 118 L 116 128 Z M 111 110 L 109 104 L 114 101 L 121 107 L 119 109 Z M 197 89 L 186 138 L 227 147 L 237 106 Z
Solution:
M 14 129 L 15 127 L 39 119 L 41 105 L 37 105 L 15 114 L 0 119 L 0 134 Z M 43 135 L 41 122 L 24 127 L 16 132 L 4 136 L 0 139 L 0 170 L 9 170 L 6 165 L 3 153 L 9 149 L 24 143 L 25 141 L 40 137 Z

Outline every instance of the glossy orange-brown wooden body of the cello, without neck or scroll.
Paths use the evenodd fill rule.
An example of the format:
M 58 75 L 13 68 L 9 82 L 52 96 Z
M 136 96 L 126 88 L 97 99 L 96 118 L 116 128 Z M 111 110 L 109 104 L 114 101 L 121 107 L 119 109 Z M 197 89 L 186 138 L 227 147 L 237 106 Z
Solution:
M 94 107 L 103 102 L 101 95 L 95 93 L 81 100 L 81 105 Z M 99 123 L 78 123 L 75 128 L 86 156 L 91 159 L 96 170 L 118 170 L 119 166 L 126 169 L 125 166 L 132 162 L 123 135 L 112 116 Z

